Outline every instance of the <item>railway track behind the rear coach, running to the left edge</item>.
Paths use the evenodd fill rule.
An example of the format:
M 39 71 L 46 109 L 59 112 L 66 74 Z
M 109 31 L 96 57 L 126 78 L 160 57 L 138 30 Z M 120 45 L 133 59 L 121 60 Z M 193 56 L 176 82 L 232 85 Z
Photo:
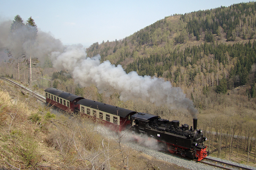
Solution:
M 7 78 L 4 78 L 4 77 L 0 77 L 0 80 L 3 80 L 3 81 L 6 81 L 7 83 L 15 86 L 15 87 L 18 87 L 18 88 L 21 88 L 21 89 L 24 89 L 26 90 L 30 95 L 34 96 L 35 98 L 37 98 L 38 100 L 42 101 L 42 102 L 46 102 L 46 99 L 45 99 L 45 96 L 43 96 L 42 94 L 39 94 L 37 91 L 35 90 L 32 90 L 24 85 L 21 85 L 13 80 L 10 80 L 10 79 L 7 79 Z

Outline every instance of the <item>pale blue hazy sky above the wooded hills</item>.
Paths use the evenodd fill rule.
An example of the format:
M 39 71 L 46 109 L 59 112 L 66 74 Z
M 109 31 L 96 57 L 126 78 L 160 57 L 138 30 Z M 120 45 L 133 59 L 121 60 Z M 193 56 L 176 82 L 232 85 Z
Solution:
M 38 30 L 64 45 L 115 41 L 173 14 L 230 6 L 241 0 L 0 0 L 0 23 L 31 16 Z

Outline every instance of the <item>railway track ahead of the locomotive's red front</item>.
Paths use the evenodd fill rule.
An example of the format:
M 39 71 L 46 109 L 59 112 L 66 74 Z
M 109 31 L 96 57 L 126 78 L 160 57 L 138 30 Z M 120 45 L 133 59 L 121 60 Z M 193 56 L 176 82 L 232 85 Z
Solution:
M 254 169 L 251 169 L 251 168 L 246 168 L 244 166 L 239 166 L 239 165 L 235 165 L 235 164 L 232 164 L 232 163 L 226 163 L 226 162 L 218 161 L 218 160 L 211 159 L 211 158 L 208 158 L 208 157 L 204 158 L 202 161 L 199 161 L 199 162 L 204 163 L 204 164 L 208 164 L 210 166 L 218 167 L 218 168 L 221 168 L 221 169 L 254 170 Z

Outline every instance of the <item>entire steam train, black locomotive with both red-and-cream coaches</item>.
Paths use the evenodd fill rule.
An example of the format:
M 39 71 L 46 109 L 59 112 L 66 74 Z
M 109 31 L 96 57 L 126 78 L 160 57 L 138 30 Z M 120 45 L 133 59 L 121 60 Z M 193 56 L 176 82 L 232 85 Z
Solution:
M 169 121 L 150 113 L 139 113 L 101 103 L 55 88 L 45 90 L 46 103 L 62 110 L 80 112 L 95 119 L 101 119 L 105 126 L 116 131 L 131 129 L 134 134 L 144 134 L 164 143 L 170 153 L 181 154 L 202 160 L 208 155 L 204 146 L 206 137 L 202 130 L 197 130 L 197 119 L 193 119 L 193 128 L 178 120 Z

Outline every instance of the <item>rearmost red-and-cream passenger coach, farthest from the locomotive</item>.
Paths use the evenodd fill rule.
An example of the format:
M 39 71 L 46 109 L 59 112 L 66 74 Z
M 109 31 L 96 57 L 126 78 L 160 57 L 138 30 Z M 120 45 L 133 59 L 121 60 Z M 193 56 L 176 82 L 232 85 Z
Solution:
M 74 112 L 78 109 L 77 102 L 83 97 L 77 96 L 75 94 L 67 93 L 62 90 L 55 88 L 47 88 L 45 91 L 46 103 L 50 103 L 62 110 L 70 109 L 71 112 Z

